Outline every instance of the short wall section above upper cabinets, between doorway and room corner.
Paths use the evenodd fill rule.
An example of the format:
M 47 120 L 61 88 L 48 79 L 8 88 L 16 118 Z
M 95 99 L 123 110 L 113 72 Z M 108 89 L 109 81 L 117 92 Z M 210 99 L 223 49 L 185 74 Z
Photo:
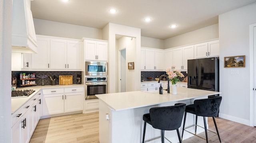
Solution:
M 141 47 L 164 49 L 164 40 L 142 36 Z

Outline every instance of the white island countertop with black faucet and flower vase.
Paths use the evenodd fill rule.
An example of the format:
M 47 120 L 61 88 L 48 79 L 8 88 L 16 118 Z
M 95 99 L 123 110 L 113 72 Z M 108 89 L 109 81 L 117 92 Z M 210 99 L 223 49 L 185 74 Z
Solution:
M 181 101 L 192 99 L 196 97 L 209 96 L 214 94 L 220 94 L 221 92 L 214 92 L 208 90 L 198 90 L 192 88 L 179 88 L 177 87 L 177 94 L 172 95 L 164 91 L 163 94 L 159 94 L 158 90 L 154 91 L 133 91 L 133 92 L 120 92 L 109 94 L 98 94 L 100 100 L 108 104 L 110 108 L 116 111 L 140 108 L 145 106 L 162 104 L 165 102 Z

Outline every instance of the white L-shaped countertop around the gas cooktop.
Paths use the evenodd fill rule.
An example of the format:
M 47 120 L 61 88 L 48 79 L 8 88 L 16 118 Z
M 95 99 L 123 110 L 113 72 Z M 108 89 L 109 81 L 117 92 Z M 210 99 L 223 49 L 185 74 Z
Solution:
M 50 88 L 65 88 L 65 87 L 75 87 L 75 86 L 84 86 L 84 84 L 70 84 L 70 85 L 45 85 L 45 86 L 28 86 L 22 88 L 16 88 L 16 90 L 25 90 L 25 89 L 32 89 L 35 90 L 28 97 L 20 97 L 20 98 L 12 98 L 12 114 L 18 110 L 24 103 L 26 103 L 30 98 L 36 95 L 41 89 L 50 89 Z

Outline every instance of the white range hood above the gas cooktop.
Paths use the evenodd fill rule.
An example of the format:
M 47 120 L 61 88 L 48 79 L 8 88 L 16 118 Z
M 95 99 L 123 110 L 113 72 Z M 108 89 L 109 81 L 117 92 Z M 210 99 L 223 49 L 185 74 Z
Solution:
M 37 53 L 30 0 L 12 0 L 12 52 Z

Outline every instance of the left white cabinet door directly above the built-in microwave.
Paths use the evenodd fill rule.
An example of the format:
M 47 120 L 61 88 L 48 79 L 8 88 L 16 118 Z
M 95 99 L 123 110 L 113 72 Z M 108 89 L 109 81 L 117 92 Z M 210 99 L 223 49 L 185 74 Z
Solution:
M 91 40 L 85 40 L 84 45 L 85 45 L 85 50 L 84 50 L 85 60 L 96 60 L 97 42 L 91 41 Z

